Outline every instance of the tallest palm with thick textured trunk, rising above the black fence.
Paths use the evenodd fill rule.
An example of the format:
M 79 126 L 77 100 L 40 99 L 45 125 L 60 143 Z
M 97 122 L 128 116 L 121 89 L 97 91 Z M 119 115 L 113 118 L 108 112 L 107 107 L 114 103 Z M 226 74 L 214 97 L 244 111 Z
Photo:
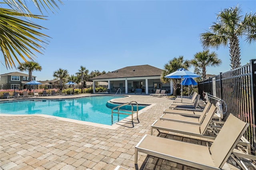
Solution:
M 226 47 L 229 44 L 231 69 L 241 65 L 239 38 L 244 36 L 248 43 L 256 40 L 256 13 L 246 13 L 244 18 L 240 13 L 239 6 L 222 10 L 217 15 L 218 22 L 210 26 L 210 32 L 200 34 L 204 48 L 218 49 L 221 45 Z

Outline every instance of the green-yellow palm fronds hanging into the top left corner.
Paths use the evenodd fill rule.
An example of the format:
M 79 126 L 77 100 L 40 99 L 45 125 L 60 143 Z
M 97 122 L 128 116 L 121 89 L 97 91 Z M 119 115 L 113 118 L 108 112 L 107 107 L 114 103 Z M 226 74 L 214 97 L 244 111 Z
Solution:
M 41 8 L 46 12 L 47 8 L 52 12 L 52 9 L 59 8 L 54 0 L 33 0 L 33 2 L 41 14 Z M 32 61 L 35 59 L 34 51 L 42 54 L 49 37 L 36 31 L 46 28 L 31 22 L 31 18 L 46 20 L 45 16 L 32 14 L 26 6 L 26 1 L 3 0 L 1 4 L 11 8 L 0 8 L 0 51 L 3 53 L 6 68 L 10 69 L 16 67 L 14 59 L 21 63 L 18 57 L 27 62 L 28 59 Z

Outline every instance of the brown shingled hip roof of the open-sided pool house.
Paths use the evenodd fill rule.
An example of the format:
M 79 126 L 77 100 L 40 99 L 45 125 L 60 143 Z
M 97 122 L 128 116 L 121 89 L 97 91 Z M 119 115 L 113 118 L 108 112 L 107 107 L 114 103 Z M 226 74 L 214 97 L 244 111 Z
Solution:
M 106 74 L 98 75 L 93 79 L 112 79 L 112 78 L 124 78 L 124 77 L 148 77 L 148 76 L 160 76 L 162 69 L 158 69 L 151 65 L 135 65 L 117 69 Z

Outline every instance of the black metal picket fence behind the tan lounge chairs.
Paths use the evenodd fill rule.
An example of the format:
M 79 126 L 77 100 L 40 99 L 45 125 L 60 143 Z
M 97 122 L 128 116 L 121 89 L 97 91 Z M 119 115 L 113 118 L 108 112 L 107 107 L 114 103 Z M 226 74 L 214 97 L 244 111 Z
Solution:
M 256 59 L 242 67 L 220 73 L 198 83 L 198 93 L 209 93 L 222 99 L 227 105 L 224 120 L 232 114 L 250 124 L 244 137 L 256 148 Z M 216 101 L 211 101 L 215 103 Z

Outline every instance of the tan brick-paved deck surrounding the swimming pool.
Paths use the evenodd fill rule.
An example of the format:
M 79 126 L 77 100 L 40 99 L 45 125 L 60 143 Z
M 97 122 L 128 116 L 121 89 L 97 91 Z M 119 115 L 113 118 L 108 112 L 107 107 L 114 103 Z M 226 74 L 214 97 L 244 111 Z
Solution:
M 44 99 L 83 97 L 88 95 L 45 96 Z M 10 100 L 10 99 L 8 99 Z M 64 121 L 56 117 L 0 116 L 0 169 L 3 170 L 114 170 L 123 166 L 130 170 L 196 170 L 138 152 L 138 166 L 134 165 L 134 147 L 145 134 L 150 134 L 150 125 L 172 103 L 171 98 L 130 95 L 114 99 L 117 102 L 137 101 L 152 104 L 142 109 L 139 123 L 124 119 L 108 128 L 86 122 Z M 154 136 L 158 135 L 157 130 Z M 168 138 L 206 145 L 201 140 L 187 136 L 164 134 Z M 245 161 L 248 169 L 255 169 Z M 224 164 L 225 170 L 239 170 L 232 158 Z

